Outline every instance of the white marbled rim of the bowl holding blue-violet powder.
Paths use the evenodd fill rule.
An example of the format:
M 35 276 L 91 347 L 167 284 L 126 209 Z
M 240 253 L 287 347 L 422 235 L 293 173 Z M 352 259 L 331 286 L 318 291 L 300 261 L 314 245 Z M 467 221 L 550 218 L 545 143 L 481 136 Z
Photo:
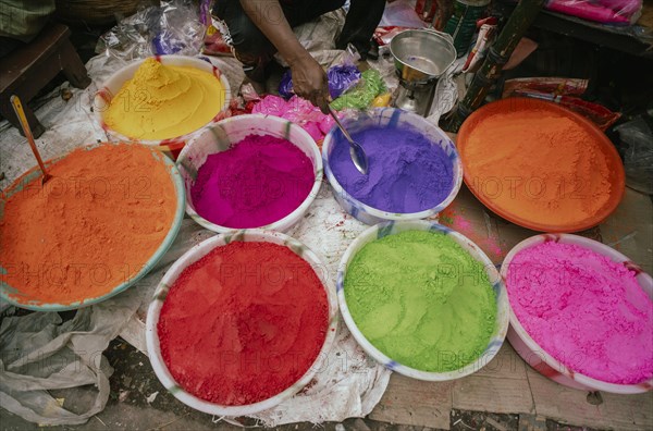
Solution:
M 379 108 L 370 111 L 369 115 L 361 115 L 360 118 L 349 113 L 342 119 L 342 122 L 349 133 L 355 133 L 370 126 L 410 126 L 411 128 L 427 135 L 433 145 L 441 146 L 449 157 L 453 167 L 454 178 L 452 189 L 447 197 L 438 206 L 420 212 L 398 213 L 383 211 L 370 207 L 369 205 L 364 204 L 349 195 L 342 184 L 335 178 L 335 175 L 331 171 L 329 163 L 329 158 L 333 151 L 334 134 L 336 133 L 336 128 L 332 128 L 324 137 L 324 143 L 322 144 L 324 172 L 326 173 L 326 178 L 329 180 L 331 188 L 333 189 L 333 196 L 335 197 L 335 200 L 337 200 L 345 211 L 354 216 L 359 221 L 371 225 L 389 220 L 426 219 L 445 209 L 458 194 L 460 185 L 463 184 L 463 164 L 460 162 L 460 158 L 458 157 L 456 146 L 440 127 L 429 123 L 422 116 L 412 112 L 403 111 L 401 109 Z M 337 131 L 337 133 L 340 133 L 340 131 Z

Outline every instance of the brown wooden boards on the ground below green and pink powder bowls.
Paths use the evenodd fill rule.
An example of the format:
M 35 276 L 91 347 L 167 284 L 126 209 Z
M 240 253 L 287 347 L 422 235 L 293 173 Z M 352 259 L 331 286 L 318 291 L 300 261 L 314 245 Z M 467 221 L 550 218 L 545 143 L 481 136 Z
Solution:
M 505 343 L 485 369 L 453 382 L 418 382 L 394 373 L 369 417 L 448 430 L 452 409 L 459 409 L 518 414 L 599 429 L 653 429 L 653 393 L 600 396 L 602 403 L 593 405 L 588 392 L 539 374 Z

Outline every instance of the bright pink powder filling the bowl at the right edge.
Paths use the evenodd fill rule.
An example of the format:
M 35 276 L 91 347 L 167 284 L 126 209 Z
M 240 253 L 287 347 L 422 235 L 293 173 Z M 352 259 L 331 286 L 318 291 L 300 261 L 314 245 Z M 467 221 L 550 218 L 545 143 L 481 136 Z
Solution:
M 506 284 L 523 329 L 571 370 L 620 384 L 653 378 L 653 301 L 624 264 L 546 242 L 515 256 Z

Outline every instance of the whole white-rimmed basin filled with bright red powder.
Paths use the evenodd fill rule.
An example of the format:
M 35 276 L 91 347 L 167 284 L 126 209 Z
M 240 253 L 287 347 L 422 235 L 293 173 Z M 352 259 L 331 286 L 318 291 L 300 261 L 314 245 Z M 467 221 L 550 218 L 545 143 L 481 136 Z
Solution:
M 244 249 L 248 245 L 260 246 L 262 253 Z M 254 415 L 301 391 L 325 366 L 336 336 L 335 287 L 323 268 L 304 244 L 273 231 L 234 231 L 193 247 L 165 273 L 148 309 L 147 349 L 158 379 L 182 403 L 218 416 Z M 242 287 L 225 297 L 238 280 Z M 199 297 L 206 300 L 198 304 Z M 316 327 L 317 317 L 323 318 L 323 328 Z M 190 321 L 195 324 L 184 323 Z M 317 337 L 316 328 L 321 333 Z M 180 347 L 180 340 L 188 346 Z M 215 346 L 225 349 L 209 352 L 222 348 Z M 303 352 L 294 350 L 300 346 L 310 348 L 312 364 L 306 365 Z M 299 362 L 305 368 L 288 380 L 288 369 Z M 187 372 L 180 373 L 180 367 Z M 195 380 L 198 385 L 190 381 L 188 387 L 183 381 L 198 374 L 205 375 Z

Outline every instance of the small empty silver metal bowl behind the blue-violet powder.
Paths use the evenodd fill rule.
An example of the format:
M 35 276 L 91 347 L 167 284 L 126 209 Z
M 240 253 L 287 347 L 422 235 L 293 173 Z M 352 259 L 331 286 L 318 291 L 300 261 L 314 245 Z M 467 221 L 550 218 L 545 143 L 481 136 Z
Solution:
M 409 83 L 435 79 L 456 61 L 451 36 L 428 29 L 399 33 L 392 38 L 390 52 L 399 77 Z

